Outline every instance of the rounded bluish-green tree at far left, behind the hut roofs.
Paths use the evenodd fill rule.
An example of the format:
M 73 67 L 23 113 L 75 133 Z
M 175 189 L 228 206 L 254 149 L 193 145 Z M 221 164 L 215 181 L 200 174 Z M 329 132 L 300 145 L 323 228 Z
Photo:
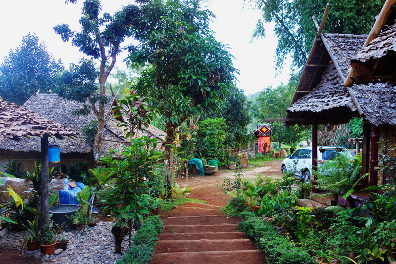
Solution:
M 38 92 L 50 92 L 54 76 L 63 68 L 47 52 L 44 42 L 33 33 L 22 38 L 21 45 L 11 50 L 0 65 L 0 96 L 18 105 Z

